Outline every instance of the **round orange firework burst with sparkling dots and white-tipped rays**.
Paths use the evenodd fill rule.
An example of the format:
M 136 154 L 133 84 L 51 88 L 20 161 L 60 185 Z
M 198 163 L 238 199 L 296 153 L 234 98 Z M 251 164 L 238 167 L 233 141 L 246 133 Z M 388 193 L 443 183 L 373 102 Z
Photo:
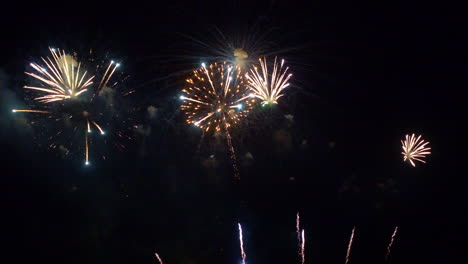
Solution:
M 227 63 L 202 64 L 186 82 L 181 109 L 187 123 L 205 132 L 226 131 L 246 117 L 255 103 L 238 68 Z

